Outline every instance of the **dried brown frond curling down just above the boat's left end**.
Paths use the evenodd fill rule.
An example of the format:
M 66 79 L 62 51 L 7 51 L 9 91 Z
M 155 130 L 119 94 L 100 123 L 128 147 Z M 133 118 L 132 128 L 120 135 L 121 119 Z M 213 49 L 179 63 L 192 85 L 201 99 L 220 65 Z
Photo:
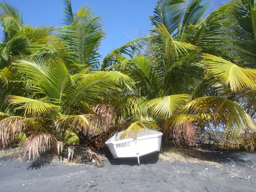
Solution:
M 108 129 L 110 124 L 113 122 L 116 110 L 107 103 L 96 103 L 93 104 L 91 108 L 102 117 L 104 124 L 106 125 L 106 129 Z

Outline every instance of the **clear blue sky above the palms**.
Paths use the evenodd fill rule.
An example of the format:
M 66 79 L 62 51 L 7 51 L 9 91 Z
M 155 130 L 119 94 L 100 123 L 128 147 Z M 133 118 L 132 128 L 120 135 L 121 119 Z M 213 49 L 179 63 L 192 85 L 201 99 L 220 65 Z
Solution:
M 23 22 L 36 27 L 62 26 L 62 0 L 7 0 L 19 8 Z M 203 0 L 203 3 L 208 2 Z M 213 0 L 210 11 L 220 6 L 223 0 Z M 106 41 L 100 47 L 100 54 L 105 56 L 112 49 L 133 40 L 134 34 L 141 31 L 144 35 L 151 29 L 149 15 L 153 15 L 157 0 L 72 0 L 73 12 L 87 4 L 92 5 L 96 16 L 103 15 L 104 29 L 108 31 Z M 134 30 L 136 29 L 136 30 Z M 129 37 L 130 36 L 130 37 Z

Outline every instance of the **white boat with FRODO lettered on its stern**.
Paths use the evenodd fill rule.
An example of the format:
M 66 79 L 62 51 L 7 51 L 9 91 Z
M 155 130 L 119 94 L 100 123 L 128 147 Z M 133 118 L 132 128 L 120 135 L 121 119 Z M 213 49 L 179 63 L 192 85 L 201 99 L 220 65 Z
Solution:
M 160 151 L 163 133 L 142 129 L 136 134 L 136 137 L 119 140 L 124 131 L 119 131 L 117 136 L 114 134 L 105 142 L 114 159 L 119 157 L 138 157 L 139 163 L 140 156 Z

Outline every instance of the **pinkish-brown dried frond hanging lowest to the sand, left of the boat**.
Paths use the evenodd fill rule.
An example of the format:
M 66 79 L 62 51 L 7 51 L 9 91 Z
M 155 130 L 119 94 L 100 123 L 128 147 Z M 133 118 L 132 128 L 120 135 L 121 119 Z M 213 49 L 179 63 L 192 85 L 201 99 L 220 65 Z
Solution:
M 56 143 L 56 138 L 53 135 L 41 131 L 32 132 L 32 134 L 26 139 L 24 156 L 29 151 L 29 159 L 31 157 L 31 153 L 33 155 L 33 159 L 38 157 L 39 152 L 45 152 L 46 148 L 50 148 L 50 142 Z

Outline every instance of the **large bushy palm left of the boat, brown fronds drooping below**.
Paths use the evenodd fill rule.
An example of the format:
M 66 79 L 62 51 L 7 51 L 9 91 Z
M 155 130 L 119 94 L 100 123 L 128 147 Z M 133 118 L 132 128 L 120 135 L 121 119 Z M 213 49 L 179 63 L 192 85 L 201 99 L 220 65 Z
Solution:
M 133 89 L 133 80 L 127 75 L 96 71 L 97 50 L 105 36 L 101 17 L 94 17 L 91 7 L 86 6 L 74 14 L 70 1 L 64 3 L 66 26 L 56 31 L 24 26 L 17 9 L 5 2 L 1 4 L 2 26 L 10 40 L 2 43 L 2 57 L 6 56 L 3 64 L 8 62 L 9 67 L 1 68 L 5 84 L 1 96 L 6 100 L 1 105 L 0 141 L 2 146 L 25 143 L 25 154 L 29 151 L 29 157 L 32 153 L 33 158 L 51 144 L 60 153 L 69 140 L 79 142 L 79 138 L 88 139 L 108 129 L 115 110 L 100 104 L 104 96 L 123 87 Z M 5 23 L 9 19 L 6 13 L 15 15 L 11 19 L 18 18 L 21 25 Z M 25 47 L 22 42 L 19 46 L 16 39 L 29 38 L 25 33 L 18 35 L 14 28 L 31 35 Z M 44 35 L 39 35 L 42 32 Z M 32 41 L 34 37 L 36 41 Z M 13 47 L 11 41 L 15 42 Z M 20 90 L 15 90 L 14 85 L 10 89 L 11 81 L 18 82 Z

